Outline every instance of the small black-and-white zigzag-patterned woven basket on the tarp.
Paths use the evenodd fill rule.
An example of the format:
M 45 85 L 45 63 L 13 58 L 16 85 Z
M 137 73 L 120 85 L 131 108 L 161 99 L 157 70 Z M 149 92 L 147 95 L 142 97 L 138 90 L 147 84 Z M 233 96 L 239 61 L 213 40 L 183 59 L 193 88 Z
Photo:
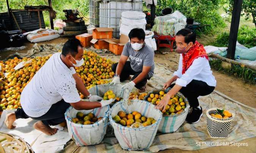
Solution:
M 231 113 L 232 116 L 227 119 L 219 119 L 210 116 L 210 114 L 217 113 L 217 109 L 220 108 L 210 108 L 206 111 L 207 131 L 211 138 L 228 138 L 231 122 L 233 121 L 235 114 Z

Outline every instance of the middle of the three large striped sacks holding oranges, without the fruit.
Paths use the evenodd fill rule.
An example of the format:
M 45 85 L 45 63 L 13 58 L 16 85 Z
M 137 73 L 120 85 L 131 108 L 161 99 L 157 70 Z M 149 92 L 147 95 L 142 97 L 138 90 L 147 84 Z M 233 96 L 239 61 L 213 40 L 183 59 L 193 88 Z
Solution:
M 155 109 L 154 105 L 149 102 L 143 100 L 131 101 L 130 105 L 127 105 L 125 101 L 121 101 L 113 105 L 109 112 L 110 124 L 114 129 L 116 139 L 118 139 L 118 142 L 123 149 L 146 150 L 151 146 L 155 138 L 159 123 L 162 119 L 162 113 L 160 110 Z M 119 111 L 125 111 L 126 113 L 138 111 L 142 116 L 154 118 L 156 122 L 152 125 L 141 128 L 124 127 L 121 124 L 117 124 L 112 119 Z

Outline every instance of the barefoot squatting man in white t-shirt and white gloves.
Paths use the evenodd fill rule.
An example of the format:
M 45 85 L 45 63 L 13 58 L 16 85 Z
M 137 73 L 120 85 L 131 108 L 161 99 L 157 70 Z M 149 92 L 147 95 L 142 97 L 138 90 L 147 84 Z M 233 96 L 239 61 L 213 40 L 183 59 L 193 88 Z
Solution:
M 112 99 L 102 100 L 102 97 L 92 96 L 86 90 L 74 69 L 83 63 L 83 48 L 79 40 L 68 40 L 62 52 L 53 54 L 24 88 L 20 96 L 22 108 L 6 116 L 6 126 L 15 128 L 13 122 L 16 119 L 30 117 L 39 120 L 34 124 L 35 129 L 53 135 L 57 128 L 49 125 L 64 122 L 64 113 L 68 107 L 91 110 L 110 104 Z M 90 102 L 81 100 L 77 90 L 87 96 Z

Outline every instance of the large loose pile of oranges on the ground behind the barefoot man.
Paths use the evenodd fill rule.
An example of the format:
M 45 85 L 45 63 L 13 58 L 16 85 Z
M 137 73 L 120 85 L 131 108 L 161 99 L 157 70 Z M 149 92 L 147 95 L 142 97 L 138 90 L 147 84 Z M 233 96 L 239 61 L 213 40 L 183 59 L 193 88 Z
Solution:
M 21 107 L 20 94 L 24 87 L 30 82 L 36 72 L 44 65 L 50 58 L 49 56 L 8 59 L 7 61 L 0 61 L 0 114 L 5 109 L 16 109 Z M 85 63 L 82 66 L 76 67 L 75 70 L 79 77 L 83 80 L 86 88 L 89 89 L 95 85 L 108 83 L 108 80 L 113 77 L 111 66 L 112 61 L 98 56 L 91 51 L 84 51 L 83 59 Z M 14 67 L 22 61 L 30 61 L 24 67 L 15 70 Z M 6 74 L 6 77 L 4 75 Z M 84 96 L 80 94 L 83 99 Z

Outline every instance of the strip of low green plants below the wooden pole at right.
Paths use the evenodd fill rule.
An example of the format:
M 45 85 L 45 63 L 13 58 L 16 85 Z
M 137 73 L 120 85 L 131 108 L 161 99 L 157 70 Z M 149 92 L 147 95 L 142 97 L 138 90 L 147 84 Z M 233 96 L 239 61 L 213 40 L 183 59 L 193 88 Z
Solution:
M 256 71 L 251 70 L 250 68 L 232 64 L 231 69 L 224 69 L 221 66 L 222 60 L 210 60 L 211 68 L 214 68 L 217 71 L 224 72 L 228 75 L 236 76 L 238 78 L 243 79 L 245 82 L 255 84 Z

